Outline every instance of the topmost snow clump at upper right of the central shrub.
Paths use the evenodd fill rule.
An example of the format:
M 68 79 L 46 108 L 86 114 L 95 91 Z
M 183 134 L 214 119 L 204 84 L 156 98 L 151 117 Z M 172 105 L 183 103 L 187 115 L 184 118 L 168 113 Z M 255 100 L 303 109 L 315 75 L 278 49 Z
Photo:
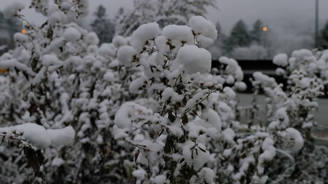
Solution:
M 208 47 L 216 40 L 217 30 L 210 20 L 202 16 L 193 16 L 189 19 L 189 25 L 196 34 L 200 34 L 197 41 L 202 47 Z

